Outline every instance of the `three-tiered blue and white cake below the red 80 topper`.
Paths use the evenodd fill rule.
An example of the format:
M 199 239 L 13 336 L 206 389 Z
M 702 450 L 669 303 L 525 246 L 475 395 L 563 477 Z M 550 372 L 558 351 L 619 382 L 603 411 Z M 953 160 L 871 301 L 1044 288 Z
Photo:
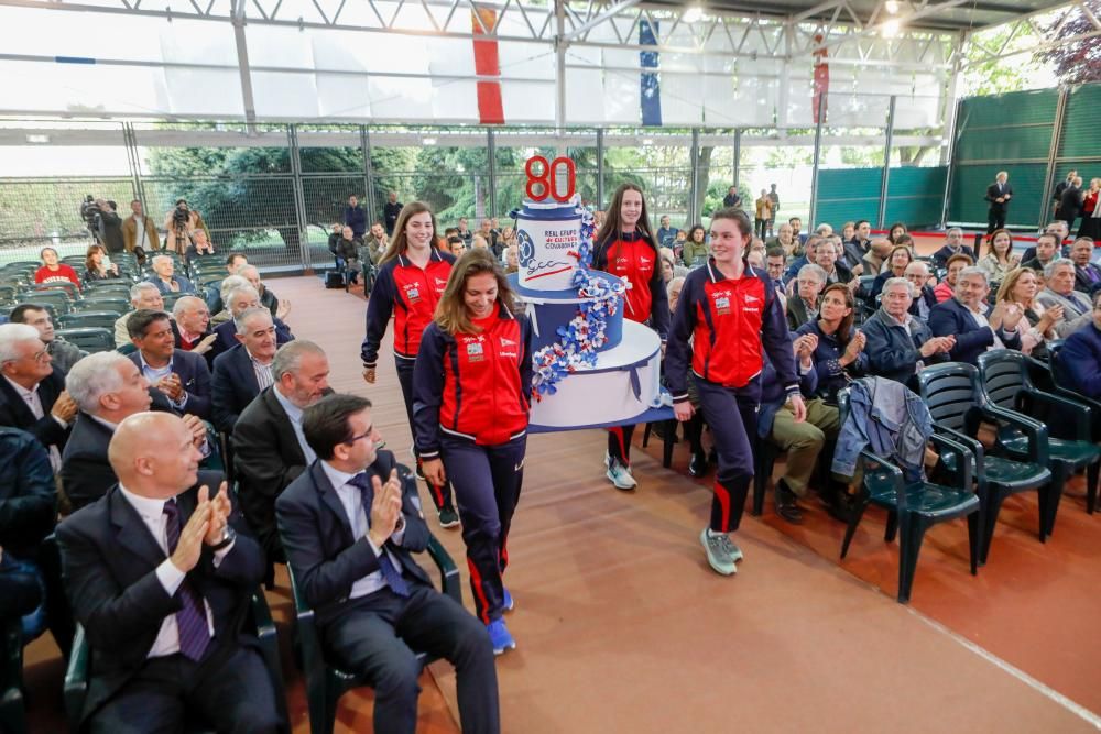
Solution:
M 531 423 L 582 428 L 632 423 L 661 405 L 661 339 L 624 320 L 622 280 L 591 270 L 592 216 L 577 197 L 525 200 L 511 285 L 534 333 Z

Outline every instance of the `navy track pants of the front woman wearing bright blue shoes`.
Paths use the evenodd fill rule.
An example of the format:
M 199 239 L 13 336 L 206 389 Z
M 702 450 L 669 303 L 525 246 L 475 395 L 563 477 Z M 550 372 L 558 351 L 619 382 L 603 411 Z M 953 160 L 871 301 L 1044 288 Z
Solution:
M 509 528 L 520 501 L 526 452 L 526 435 L 497 446 L 440 437 L 439 453 L 462 519 L 475 611 L 486 624 L 504 611 L 502 574 L 509 565 Z

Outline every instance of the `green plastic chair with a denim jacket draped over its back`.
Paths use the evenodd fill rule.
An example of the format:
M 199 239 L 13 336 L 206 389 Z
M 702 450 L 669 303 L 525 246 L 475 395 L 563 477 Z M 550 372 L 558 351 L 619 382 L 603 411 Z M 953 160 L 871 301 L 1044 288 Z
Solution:
M 849 388 L 838 393 L 838 408 L 841 425 L 849 420 Z M 979 548 L 982 538 L 982 505 L 971 481 L 971 465 L 974 457 L 962 443 L 934 434 L 929 442 L 941 456 L 952 454 L 951 464 L 939 462 L 937 473 L 950 484 L 934 482 L 906 482 L 902 470 L 889 459 L 869 450 L 860 452 L 863 467 L 861 491 L 853 503 L 849 525 L 841 544 L 841 558 L 849 552 L 849 544 L 857 532 L 864 511 L 870 504 L 887 511 L 887 526 L 883 539 L 891 543 L 898 536 L 898 602 L 909 602 L 917 570 L 917 557 L 922 551 L 925 533 L 938 523 L 947 523 L 957 517 L 967 517 L 968 547 L 971 556 L 971 576 L 978 573 Z M 953 469 L 949 469 L 949 465 Z

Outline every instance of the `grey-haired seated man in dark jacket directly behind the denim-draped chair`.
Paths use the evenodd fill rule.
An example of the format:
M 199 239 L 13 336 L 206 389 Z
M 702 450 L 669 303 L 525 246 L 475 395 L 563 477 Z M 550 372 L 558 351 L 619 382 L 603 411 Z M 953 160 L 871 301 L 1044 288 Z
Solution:
M 869 374 L 912 387 L 914 375 L 929 364 L 947 361 L 956 346 L 951 336 L 933 336 L 925 320 L 914 316 L 913 300 L 913 285 L 906 278 L 887 278 L 880 308 L 860 327 L 868 339 Z

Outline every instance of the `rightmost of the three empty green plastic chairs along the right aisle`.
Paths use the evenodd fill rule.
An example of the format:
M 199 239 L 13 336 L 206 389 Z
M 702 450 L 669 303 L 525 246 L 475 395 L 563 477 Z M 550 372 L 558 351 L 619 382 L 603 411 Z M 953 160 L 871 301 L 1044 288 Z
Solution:
M 1090 407 L 1080 399 L 1037 390 L 1029 369 L 1046 370 L 1036 360 L 1012 349 L 980 354 L 980 407 L 983 417 L 998 425 L 998 452 L 1017 461 L 1037 461 L 1031 458 L 1038 456 L 1031 449 L 1033 441 L 1039 440 L 1038 429 L 1046 428 L 1051 486 L 1040 494 L 1044 540 L 1055 529 L 1062 487 L 1071 474 L 1084 469 L 1087 492 L 1097 495 L 1101 448 L 1093 442 Z M 1029 424 L 1032 427 L 1026 428 Z

